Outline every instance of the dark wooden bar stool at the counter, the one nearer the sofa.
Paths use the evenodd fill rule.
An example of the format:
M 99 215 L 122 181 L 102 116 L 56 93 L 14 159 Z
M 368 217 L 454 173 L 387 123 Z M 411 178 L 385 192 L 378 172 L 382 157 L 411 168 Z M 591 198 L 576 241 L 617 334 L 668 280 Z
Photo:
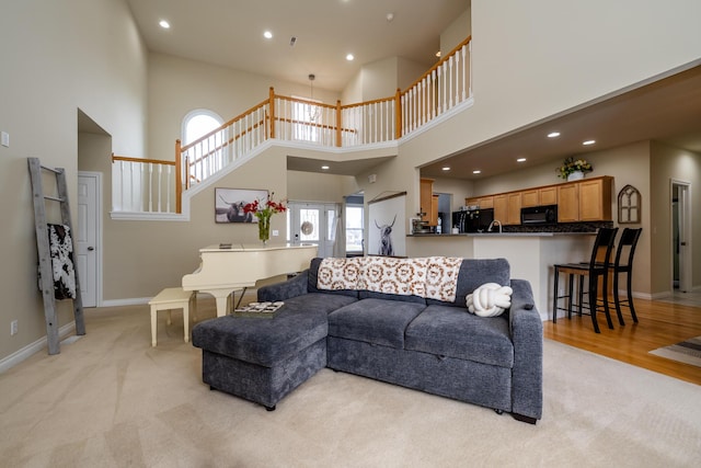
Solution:
M 608 301 L 608 277 L 609 269 L 611 266 L 611 251 L 613 250 L 613 240 L 618 228 L 600 228 L 596 235 L 594 241 L 594 249 L 591 249 L 591 258 L 589 262 L 582 263 L 561 263 L 554 265 L 554 289 L 553 289 L 553 316 L 552 321 L 558 321 L 558 310 L 567 310 L 567 318 L 572 318 L 572 290 L 574 286 L 574 276 L 579 277 L 578 284 L 578 312 L 582 316 L 582 309 L 584 308 L 584 277 L 588 277 L 587 287 L 587 305 L 589 307 L 589 315 L 591 316 L 591 324 L 594 331 L 600 333 L 599 323 L 597 320 L 597 312 L 599 311 L 599 304 L 604 307 L 604 313 L 606 315 L 606 321 L 610 329 L 613 329 L 613 322 L 611 321 L 611 315 L 609 312 Z M 560 273 L 568 275 L 568 287 L 564 296 L 558 296 L 558 287 L 560 283 Z M 598 297 L 599 279 L 601 279 L 601 299 Z M 558 299 L 566 298 L 567 308 L 558 307 Z

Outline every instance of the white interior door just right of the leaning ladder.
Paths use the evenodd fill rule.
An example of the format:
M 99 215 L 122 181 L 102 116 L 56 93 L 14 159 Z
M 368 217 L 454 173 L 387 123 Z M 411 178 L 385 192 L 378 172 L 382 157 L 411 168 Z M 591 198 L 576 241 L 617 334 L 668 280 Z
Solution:
M 100 187 L 96 173 L 78 174 L 78 228 L 74 233 L 76 264 L 83 307 L 96 307 L 100 286 Z

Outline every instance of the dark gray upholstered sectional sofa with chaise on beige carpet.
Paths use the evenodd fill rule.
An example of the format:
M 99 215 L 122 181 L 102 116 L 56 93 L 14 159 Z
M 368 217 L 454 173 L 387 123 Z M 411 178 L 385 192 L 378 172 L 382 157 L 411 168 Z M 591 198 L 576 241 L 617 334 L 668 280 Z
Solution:
M 542 322 L 530 284 L 512 279 L 505 259 L 458 260 L 457 275 L 436 287 L 441 298 L 455 296 L 448 301 L 421 284 L 420 294 L 383 292 L 367 284 L 367 274 L 366 283 L 320 278 L 322 259 L 314 259 L 294 278 L 258 289 L 260 301 L 285 301 L 274 319 L 227 316 L 194 327 L 203 380 L 273 410 L 330 367 L 535 424 L 542 412 Z M 484 283 L 513 289 L 503 315 L 468 312 L 466 296 Z

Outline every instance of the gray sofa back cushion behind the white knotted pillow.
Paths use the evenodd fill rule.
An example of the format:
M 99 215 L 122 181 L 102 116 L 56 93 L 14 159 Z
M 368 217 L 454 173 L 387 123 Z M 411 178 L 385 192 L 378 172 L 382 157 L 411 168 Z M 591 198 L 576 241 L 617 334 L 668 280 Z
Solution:
M 467 308 L 466 298 L 484 283 L 510 284 L 510 266 L 506 259 L 463 259 L 458 273 L 456 299 L 452 303 L 426 299 L 428 305 L 452 305 Z

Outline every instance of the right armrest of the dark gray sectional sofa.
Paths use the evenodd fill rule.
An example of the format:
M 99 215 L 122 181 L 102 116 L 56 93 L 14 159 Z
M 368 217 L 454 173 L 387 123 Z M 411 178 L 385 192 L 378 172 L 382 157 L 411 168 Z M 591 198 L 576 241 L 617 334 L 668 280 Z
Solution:
M 514 342 L 512 411 L 539 420 L 543 406 L 543 323 L 526 279 L 512 279 L 509 330 Z

